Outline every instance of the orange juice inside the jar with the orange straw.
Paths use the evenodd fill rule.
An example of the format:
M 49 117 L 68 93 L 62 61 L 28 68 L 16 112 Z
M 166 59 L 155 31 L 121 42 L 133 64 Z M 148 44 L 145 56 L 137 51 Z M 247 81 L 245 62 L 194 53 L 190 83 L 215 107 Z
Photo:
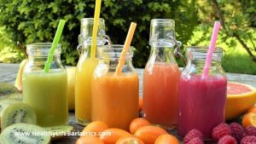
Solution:
M 138 117 L 137 73 L 115 75 L 109 72 L 92 80 L 92 120 L 103 121 L 110 128 L 129 130 Z

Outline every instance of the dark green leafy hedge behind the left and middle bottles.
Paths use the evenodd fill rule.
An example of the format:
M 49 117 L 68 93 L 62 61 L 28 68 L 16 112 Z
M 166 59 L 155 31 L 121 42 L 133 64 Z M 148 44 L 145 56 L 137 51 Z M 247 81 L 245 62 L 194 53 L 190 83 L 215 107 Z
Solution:
M 59 20 L 67 20 L 61 56 L 67 65 L 76 65 L 80 20 L 93 17 L 94 7 L 95 0 L 0 0 L 0 26 L 5 26 L 13 48 L 25 51 L 27 43 L 51 42 Z M 124 43 L 131 21 L 137 22 L 131 43 L 137 49 L 133 60 L 137 67 L 143 67 L 148 60 L 151 19 L 174 19 L 177 40 L 183 43 L 189 41 L 198 25 L 193 0 L 102 0 L 101 17 L 113 43 Z

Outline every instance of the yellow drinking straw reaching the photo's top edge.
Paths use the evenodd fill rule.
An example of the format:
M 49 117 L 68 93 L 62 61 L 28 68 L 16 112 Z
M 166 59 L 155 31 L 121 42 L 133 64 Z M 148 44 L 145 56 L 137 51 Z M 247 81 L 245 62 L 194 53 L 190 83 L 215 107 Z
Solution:
M 96 0 L 96 6 L 95 6 L 95 12 L 94 12 L 94 23 L 93 23 L 93 29 L 92 29 L 92 40 L 91 40 L 91 48 L 90 48 L 91 59 L 94 59 L 96 56 L 96 37 L 97 37 L 98 27 L 99 27 L 101 4 L 102 4 L 102 0 Z

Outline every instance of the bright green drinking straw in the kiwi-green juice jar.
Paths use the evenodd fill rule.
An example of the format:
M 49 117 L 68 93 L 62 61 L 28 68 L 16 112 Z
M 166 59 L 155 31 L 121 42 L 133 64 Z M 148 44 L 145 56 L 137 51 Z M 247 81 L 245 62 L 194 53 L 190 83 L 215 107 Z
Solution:
M 47 58 L 47 61 L 45 63 L 45 66 L 44 66 L 44 72 L 49 72 L 49 67 L 50 67 L 50 64 L 53 60 L 53 56 L 55 54 L 55 49 L 61 39 L 61 33 L 63 31 L 63 27 L 65 26 L 65 22 L 66 20 L 60 20 L 59 22 L 59 26 L 57 28 L 57 31 L 55 32 L 55 38 L 54 38 L 54 41 L 53 43 L 51 44 L 51 47 L 49 49 L 49 55 L 48 55 L 48 58 Z

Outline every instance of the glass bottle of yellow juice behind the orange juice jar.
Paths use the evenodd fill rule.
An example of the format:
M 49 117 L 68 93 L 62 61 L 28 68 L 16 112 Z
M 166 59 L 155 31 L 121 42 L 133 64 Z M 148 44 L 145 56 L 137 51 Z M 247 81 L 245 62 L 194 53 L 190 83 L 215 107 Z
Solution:
M 75 78 L 75 117 L 77 122 L 86 125 L 91 121 L 91 77 L 98 59 L 91 58 L 91 36 L 94 19 L 84 18 L 81 20 L 81 35 L 79 36 L 79 45 L 82 47 L 82 54 L 76 70 Z M 96 39 L 96 49 L 104 45 L 105 23 L 103 19 L 99 20 L 99 28 Z

